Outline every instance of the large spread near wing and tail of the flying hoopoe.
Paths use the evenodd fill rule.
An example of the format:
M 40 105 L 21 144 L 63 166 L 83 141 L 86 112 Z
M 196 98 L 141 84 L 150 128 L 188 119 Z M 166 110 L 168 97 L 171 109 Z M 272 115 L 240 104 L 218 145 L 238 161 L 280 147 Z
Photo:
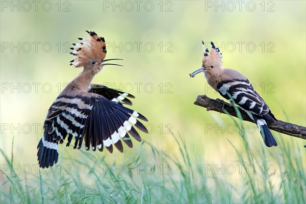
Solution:
M 103 151 L 105 146 L 112 152 L 114 144 L 122 152 L 121 140 L 127 146 L 133 147 L 129 135 L 141 141 L 134 126 L 148 133 L 137 118 L 147 121 L 140 113 L 98 94 L 82 92 L 77 96 L 60 95 L 50 107 L 45 119 L 44 135 L 38 144 L 39 164 L 41 167 L 53 165 L 53 158 L 50 157 L 55 156 L 50 156 L 50 152 L 56 155 L 58 142 L 63 143 L 67 135 L 66 146 L 69 146 L 74 136 L 73 148 L 78 149 L 83 141 L 86 150 L 91 146 L 94 151 L 96 148 Z

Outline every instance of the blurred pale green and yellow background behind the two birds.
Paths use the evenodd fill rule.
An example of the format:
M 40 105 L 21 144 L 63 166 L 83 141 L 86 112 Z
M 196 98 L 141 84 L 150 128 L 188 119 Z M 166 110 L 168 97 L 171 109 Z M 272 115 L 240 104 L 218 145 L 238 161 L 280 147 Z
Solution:
M 244 151 L 228 116 L 193 105 L 197 95 L 220 98 L 203 74 L 189 78 L 201 66 L 201 40 L 207 45 L 215 42 L 223 54 L 223 67 L 242 72 L 276 118 L 306 125 L 304 1 L 244 2 L 241 8 L 232 1 L 140 2 L 137 8 L 133 1 L 52 1 L 40 2 L 37 9 L 31 2 L 1 2 L 1 148 L 9 154 L 14 136 L 16 165 L 37 164 L 46 112 L 64 84 L 81 71 L 69 66 L 68 48 L 79 42 L 78 37 L 87 37 L 85 30 L 105 37 L 107 58 L 124 59 L 123 68 L 106 66 L 93 83 L 135 95 L 133 109 L 149 119 L 151 130 L 141 136 L 160 149 L 179 151 L 168 134 L 170 128 L 186 138 L 192 154 L 212 164 L 235 160 L 227 140 Z M 256 126 L 244 124 L 250 140 L 260 145 Z M 124 146 L 125 154 L 117 150 L 113 155 L 92 154 L 112 163 L 149 148 L 133 143 L 133 149 Z M 64 159 L 67 155 L 86 159 L 80 151 L 63 146 Z M 268 150 L 273 154 L 275 147 Z

